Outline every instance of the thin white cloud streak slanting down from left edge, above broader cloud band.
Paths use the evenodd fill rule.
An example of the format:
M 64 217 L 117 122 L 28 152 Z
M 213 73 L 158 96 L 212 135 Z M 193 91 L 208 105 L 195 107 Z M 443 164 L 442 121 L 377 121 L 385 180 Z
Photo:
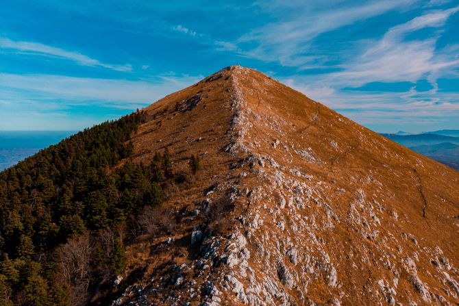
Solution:
M 114 71 L 132 71 L 132 66 L 129 64 L 106 64 L 79 52 L 66 51 L 64 49 L 51 47 L 47 44 L 40 44 L 38 42 L 14 41 L 10 40 L 9 38 L 0 37 L 0 48 L 10 49 L 18 53 L 30 53 L 52 58 L 71 60 L 82 66 L 102 67 L 112 69 Z

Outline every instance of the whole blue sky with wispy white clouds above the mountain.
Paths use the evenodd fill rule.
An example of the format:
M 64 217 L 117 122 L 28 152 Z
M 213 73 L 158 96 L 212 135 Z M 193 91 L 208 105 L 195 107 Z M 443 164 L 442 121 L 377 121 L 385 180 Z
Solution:
M 77 130 L 225 66 L 375 131 L 459 129 L 459 3 L 0 0 L 0 130 Z

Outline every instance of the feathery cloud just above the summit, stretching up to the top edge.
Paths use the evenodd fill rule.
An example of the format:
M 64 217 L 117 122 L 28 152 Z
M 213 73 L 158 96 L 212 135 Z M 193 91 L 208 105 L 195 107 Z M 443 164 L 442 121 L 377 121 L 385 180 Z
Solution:
M 303 66 L 317 60 L 318 56 L 305 53 L 310 49 L 314 38 L 320 34 L 351 25 L 373 16 L 384 14 L 390 10 L 406 7 L 412 0 L 371 1 L 358 5 L 343 5 L 339 10 L 308 10 L 304 3 L 290 3 L 289 9 L 294 10 L 275 23 L 269 23 L 238 40 L 238 44 L 255 44 L 253 49 L 241 52 L 249 58 L 265 61 L 276 61 L 284 66 Z

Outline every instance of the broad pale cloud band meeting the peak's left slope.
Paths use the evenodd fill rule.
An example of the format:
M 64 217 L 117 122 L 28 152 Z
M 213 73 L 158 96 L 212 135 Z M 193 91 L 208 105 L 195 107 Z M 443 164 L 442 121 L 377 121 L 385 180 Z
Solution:
M 148 105 L 171 92 L 190 86 L 199 77 L 157 77 L 143 81 L 124 79 L 95 79 L 90 77 L 67 77 L 62 75 L 14 75 L 0 73 L 1 92 L 24 94 L 27 101 L 47 103 L 60 101 L 95 101 L 118 107 L 132 107 L 139 103 Z M 4 94 L 0 94 L 4 97 Z M 21 101 L 21 100 L 19 100 Z M 15 101 L 15 102 L 19 102 Z

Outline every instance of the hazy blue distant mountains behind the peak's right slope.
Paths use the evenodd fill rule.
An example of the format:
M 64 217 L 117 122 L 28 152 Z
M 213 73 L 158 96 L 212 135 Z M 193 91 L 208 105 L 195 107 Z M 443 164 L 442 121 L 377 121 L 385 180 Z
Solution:
M 432 160 L 459 170 L 459 130 L 457 129 L 441 129 L 419 134 L 398 131 L 381 135 Z

